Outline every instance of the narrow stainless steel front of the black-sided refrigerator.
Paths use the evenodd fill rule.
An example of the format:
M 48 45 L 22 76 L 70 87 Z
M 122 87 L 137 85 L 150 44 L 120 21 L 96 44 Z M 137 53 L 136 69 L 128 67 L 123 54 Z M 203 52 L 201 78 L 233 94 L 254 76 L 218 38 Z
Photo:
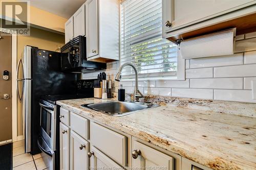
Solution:
M 25 153 L 31 152 L 31 47 L 24 49 L 24 92 L 23 92 L 23 114 L 25 115 Z

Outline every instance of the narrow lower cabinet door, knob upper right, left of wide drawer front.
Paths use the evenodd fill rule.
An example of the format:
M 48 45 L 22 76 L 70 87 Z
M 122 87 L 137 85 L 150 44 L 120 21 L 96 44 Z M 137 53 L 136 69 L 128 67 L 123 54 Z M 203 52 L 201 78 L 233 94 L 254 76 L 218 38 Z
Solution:
M 70 134 L 70 169 L 88 169 L 89 143 L 75 132 Z

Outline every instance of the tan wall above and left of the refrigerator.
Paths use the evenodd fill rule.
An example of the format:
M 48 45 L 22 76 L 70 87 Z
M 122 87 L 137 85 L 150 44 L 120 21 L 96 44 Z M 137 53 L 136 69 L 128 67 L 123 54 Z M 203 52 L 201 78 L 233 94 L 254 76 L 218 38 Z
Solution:
M 55 51 L 65 44 L 65 37 L 56 33 L 31 28 L 30 36 L 17 37 L 17 60 L 23 56 L 24 46 L 32 45 L 44 50 Z M 23 134 L 22 105 L 17 102 L 17 134 Z

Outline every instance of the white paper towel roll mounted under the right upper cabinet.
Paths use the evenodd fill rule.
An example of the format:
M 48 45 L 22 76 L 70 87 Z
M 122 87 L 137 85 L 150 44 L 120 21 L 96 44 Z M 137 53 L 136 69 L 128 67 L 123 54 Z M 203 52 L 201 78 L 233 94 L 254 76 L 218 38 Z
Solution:
M 199 36 L 180 43 L 183 59 L 213 57 L 233 54 L 236 28 Z

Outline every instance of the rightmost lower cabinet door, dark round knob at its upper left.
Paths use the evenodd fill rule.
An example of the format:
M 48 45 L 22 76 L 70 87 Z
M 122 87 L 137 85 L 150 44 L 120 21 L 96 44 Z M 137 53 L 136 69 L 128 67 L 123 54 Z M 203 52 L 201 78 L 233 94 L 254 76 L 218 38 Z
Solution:
M 141 169 L 174 169 L 174 159 L 153 148 L 133 140 L 132 167 Z M 137 157 L 136 157 L 137 156 Z

